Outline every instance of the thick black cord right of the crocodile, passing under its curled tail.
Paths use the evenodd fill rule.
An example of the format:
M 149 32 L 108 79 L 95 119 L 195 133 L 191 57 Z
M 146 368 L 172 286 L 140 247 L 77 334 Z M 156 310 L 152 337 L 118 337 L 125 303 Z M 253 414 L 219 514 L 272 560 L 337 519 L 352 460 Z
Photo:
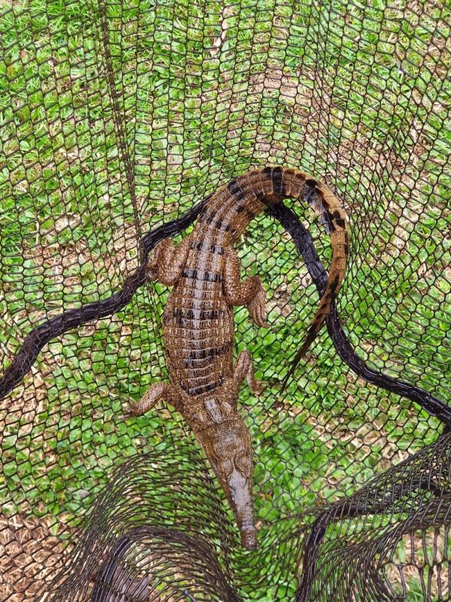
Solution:
M 327 271 L 321 263 L 312 237 L 309 235 L 303 224 L 300 222 L 296 213 L 285 207 L 282 203 L 273 205 L 267 211 L 269 215 L 272 215 L 280 221 L 280 224 L 293 238 L 293 242 L 296 244 L 296 248 L 300 255 L 303 256 L 305 265 L 309 271 L 312 281 L 316 285 L 319 294 L 322 294 L 325 285 L 327 283 Z M 429 415 L 432 415 L 443 422 L 446 425 L 447 430 L 451 429 L 451 408 L 444 401 L 436 399 L 429 392 L 425 391 L 421 387 L 410 385 L 404 381 L 398 380 L 398 378 L 392 378 L 381 372 L 377 372 L 372 368 L 368 367 L 364 360 L 361 360 L 352 345 L 348 341 L 343 329 L 341 328 L 340 317 L 337 313 L 335 304 L 332 303 L 330 313 L 326 318 L 327 331 L 332 339 L 339 357 L 345 362 L 350 369 L 360 376 L 368 383 L 382 387 L 386 391 L 406 397 L 418 403 L 420 408 L 423 408 Z M 284 379 L 284 383 L 288 378 Z

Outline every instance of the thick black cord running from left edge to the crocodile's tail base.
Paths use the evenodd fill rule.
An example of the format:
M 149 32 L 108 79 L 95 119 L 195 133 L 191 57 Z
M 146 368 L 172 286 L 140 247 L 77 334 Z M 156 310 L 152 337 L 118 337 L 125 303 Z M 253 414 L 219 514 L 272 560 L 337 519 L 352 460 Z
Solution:
M 203 199 L 201 203 L 198 203 L 184 215 L 169 221 L 168 224 L 158 226 L 158 228 L 142 237 L 143 263 L 134 274 L 126 278 L 124 286 L 119 292 L 114 293 L 108 299 L 94 301 L 94 303 L 89 303 L 81 308 L 62 312 L 62 314 L 46 320 L 31 331 L 0 380 L 0 399 L 3 399 L 22 381 L 46 343 L 77 326 L 81 326 L 81 324 L 114 314 L 126 306 L 127 303 L 130 303 L 138 288 L 146 282 L 146 261 L 153 247 L 160 240 L 174 236 L 192 224 L 205 203 L 210 199 L 210 196 Z

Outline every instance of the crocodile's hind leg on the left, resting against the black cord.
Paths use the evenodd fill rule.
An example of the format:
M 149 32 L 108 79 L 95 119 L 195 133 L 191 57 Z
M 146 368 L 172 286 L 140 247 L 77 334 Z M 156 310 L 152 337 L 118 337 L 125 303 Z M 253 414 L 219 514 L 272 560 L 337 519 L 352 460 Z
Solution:
M 189 251 L 189 237 L 184 238 L 178 246 L 172 240 L 159 242 L 148 259 L 146 276 L 149 280 L 158 280 L 172 286 L 182 275 L 182 270 L 187 262 Z

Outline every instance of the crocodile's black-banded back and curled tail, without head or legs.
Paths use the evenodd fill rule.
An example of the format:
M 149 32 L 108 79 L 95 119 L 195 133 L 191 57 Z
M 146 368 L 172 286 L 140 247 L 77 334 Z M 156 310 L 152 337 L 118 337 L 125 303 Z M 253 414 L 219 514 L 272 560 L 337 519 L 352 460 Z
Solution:
M 185 268 L 164 311 L 169 377 L 189 396 L 208 394 L 232 373 L 232 310 L 222 285 L 226 249 L 256 215 L 287 197 L 306 201 L 320 215 L 332 243 L 327 286 L 300 352 L 305 353 L 330 311 L 349 246 L 346 213 L 338 199 L 323 184 L 294 169 L 266 167 L 232 179 L 212 194 L 199 215 L 189 235 Z

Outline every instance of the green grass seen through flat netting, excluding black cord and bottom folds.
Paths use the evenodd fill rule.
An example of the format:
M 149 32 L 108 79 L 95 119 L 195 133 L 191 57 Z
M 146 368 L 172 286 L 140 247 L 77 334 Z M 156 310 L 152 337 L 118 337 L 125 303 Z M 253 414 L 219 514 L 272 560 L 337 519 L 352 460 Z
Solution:
M 40 0 L 2 15 L 3 365 L 46 315 L 121 286 L 138 253 L 135 210 L 145 232 L 230 176 L 276 162 L 327 177 L 346 202 L 352 261 L 340 313 L 359 356 L 448 401 L 450 55 L 440 42 L 449 26 L 438 9 L 418 19 L 407 8 L 397 19 L 398 9 L 379 0 L 345 5 L 296 3 L 295 11 L 291 2 L 246 0 L 224 13 L 216 2 L 108 6 L 126 151 L 99 15 L 84 2 Z M 316 223 L 309 229 L 327 263 L 327 237 Z M 239 400 L 253 436 L 256 513 L 283 528 L 291 512 L 354 492 L 398 461 L 398 450 L 432 442 L 439 424 L 359 381 L 326 333 L 280 399 L 316 291 L 300 285 L 306 269 L 267 217 L 250 228 L 240 256 L 246 275 L 263 276 L 271 307 L 267 331 L 236 311 L 236 351 L 252 351 L 267 383 L 261 401 L 245 387 Z M 165 375 L 166 295 L 150 285 L 124 311 L 40 354 L 25 381 L 26 411 L 24 387 L 2 410 L 5 512 L 76 524 L 118 462 L 187 433 L 162 410 L 117 419 L 130 397 Z

